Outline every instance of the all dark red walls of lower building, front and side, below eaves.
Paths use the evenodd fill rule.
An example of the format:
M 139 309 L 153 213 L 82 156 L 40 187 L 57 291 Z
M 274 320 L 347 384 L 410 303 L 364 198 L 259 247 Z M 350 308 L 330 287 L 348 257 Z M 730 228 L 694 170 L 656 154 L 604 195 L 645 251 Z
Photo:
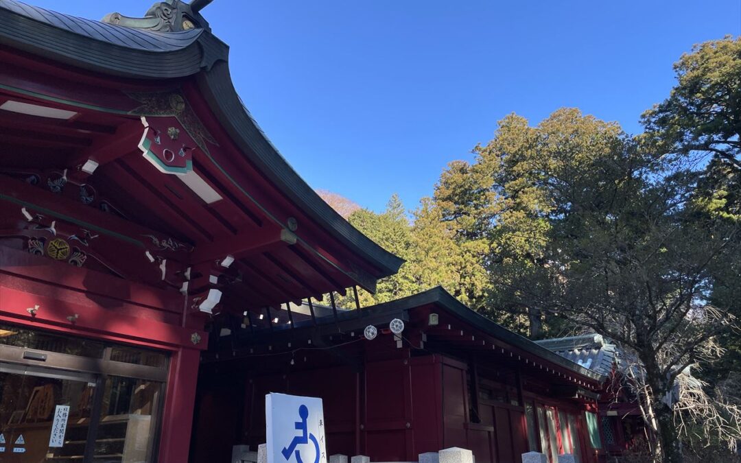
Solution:
M 240 368 L 242 373 L 224 373 L 199 383 L 191 462 L 227 461 L 232 444 L 250 444 L 255 450 L 265 442 L 265 394 L 270 392 L 323 399 L 330 455 L 413 462 L 419 453 L 463 447 L 473 451 L 478 463 L 515 463 L 528 451 L 522 404 L 478 399 L 472 419 L 468 365 L 445 356 L 299 371 L 286 366 L 285 373 L 262 376 L 256 371 L 259 365 Z M 525 399 L 533 400 L 531 395 Z M 580 413 L 578 404 L 556 402 Z M 583 450 L 582 463 L 588 463 L 587 449 Z

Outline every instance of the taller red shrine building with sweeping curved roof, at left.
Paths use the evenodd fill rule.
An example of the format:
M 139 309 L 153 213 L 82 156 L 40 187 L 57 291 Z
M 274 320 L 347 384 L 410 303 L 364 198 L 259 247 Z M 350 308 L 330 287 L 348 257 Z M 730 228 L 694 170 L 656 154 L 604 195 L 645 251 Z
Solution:
M 136 412 L 119 413 L 113 393 L 133 403 L 150 383 L 125 390 L 127 374 L 113 374 L 126 370 L 115 360 L 124 345 L 166 354 L 147 458 L 186 462 L 212 319 L 374 290 L 402 263 L 319 199 L 256 127 L 231 84 L 227 46 L 199 13 L 206 3 L 162 2 L 143 19 L 99 22 L 0 1 L 0 379 L 9 398 L 0 422 L 13 441 L 31 441 L 0 459 L 126 460 L 124 448 L 87 448 L 114 439 L 104 433 L 116 420 L 129 428 L 115 439 L 125 446 L 133 436 Z M 90 354 L 96 362 L 70 356 L 81 338 L 107 350 Z M 136 356 L 134 373 L 157 378 Z M 39 385 L 26 387 L 18 367 Z M 70 369 L 86 376 L 60 373 Z M 102 397 L 80 406 L 80 426 L 67 430 L 79 450 L 47 450 L 52 412 L 29 413 L 31 395 L 72 397 L 74 410 L 95 396 L 90 388 Z

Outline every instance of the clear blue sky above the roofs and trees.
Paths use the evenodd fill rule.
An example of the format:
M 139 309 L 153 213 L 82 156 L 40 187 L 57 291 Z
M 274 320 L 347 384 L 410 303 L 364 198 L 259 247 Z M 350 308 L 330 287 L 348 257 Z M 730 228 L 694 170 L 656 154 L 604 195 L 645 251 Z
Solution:
M 150 0 L 27 0 L 100 19 Z M 232 77 L 315 188 L 382 210 L 429 196 L 496 121 L 579 107 L 640 131 L 692 44 L 741 34 L 740 0 L 215 0 Z

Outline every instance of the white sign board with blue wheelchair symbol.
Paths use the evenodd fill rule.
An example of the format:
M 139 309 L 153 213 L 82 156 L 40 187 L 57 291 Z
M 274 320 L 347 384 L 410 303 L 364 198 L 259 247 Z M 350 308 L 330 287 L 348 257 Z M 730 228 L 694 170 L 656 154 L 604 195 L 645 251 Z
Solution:
M 265 396 L 268 463 L 327 463 L 322 399 Z

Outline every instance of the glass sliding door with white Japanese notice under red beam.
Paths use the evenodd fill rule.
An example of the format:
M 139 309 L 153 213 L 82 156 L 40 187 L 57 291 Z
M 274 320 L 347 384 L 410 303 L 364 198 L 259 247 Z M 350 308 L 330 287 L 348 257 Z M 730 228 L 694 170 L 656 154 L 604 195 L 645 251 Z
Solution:
M 0 325 L 0 462 L 150 463 L 167 354 Z

